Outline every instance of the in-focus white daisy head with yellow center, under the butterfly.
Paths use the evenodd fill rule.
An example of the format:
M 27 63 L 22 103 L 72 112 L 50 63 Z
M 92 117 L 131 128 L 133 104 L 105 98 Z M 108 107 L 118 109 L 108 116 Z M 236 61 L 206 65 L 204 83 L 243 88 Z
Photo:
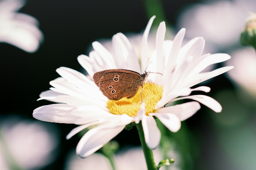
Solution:
M 141 66 L 131 43 L 122 33 L 117 33 L 112 38 L 113 54 L 100 43 L 93 42 L 94 50 L 90 52 L 89 57 L 78 57 L 79 63 L 91 77 L 96 72 L 108 69 L 127 69 L 143 73 L 148 63 L 152 62 L 147 70 L 162 75 L 149 74 L 142 94 L 140 87 L 132 98 L 109 100 L 93 81 L 80 72 L 66 67 L 56 70 L 61 78 L 51 81 L 53 87 L 41 93 L 38 100 L 46 99 L 60 104 L 38 107 L 33 112 L 34 118 L 80 125 L 67 135 L 67 139 L 84 128 L 97 125 L 79 141 L 76 147 L 78 156 L 90 156 L 132 122 L 138 124 L 141 121 L 145 142 L 149 148 L 154 149 L 161 137 L 154 117 L 172 132 L 177 132 L 180 129 L 180 121 L 189 118 L 200 109 L 198 102 L 215 112 L 221 112 L 221 105 L 214 99 L 206 95 L 189 96 L 195 90 L 209 92 L 209 87 L 190 87 L 232 69 L 233 66 L 227 66 L 212 72 L 201 72 L 213 63 L 230 59 L 230 56 L 201 55 L 204 49 L 202 37 L 196 37 L 181 47 L 185 29 L 181 29 L 174 40 L 164 40 L 166 26 L 165 22 L 162 22 L 157 29 L 156 48 L 148 61 L 147 37 L 154 18 L 155 16 L 149 20 L 142 37 Z M 183 97 L 177 98 L 179 96 Z M 185 98 L 195 101 L 165 107 L 168 103 Z

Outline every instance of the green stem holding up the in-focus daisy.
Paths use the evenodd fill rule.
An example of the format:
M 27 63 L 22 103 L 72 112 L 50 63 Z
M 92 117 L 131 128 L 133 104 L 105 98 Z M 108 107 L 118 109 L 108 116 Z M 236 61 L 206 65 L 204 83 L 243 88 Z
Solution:
M 148 170 L 156 170 L 156 164 L 154 162 L 154 156 L 153 156 L 153 152 L 151 149 L 148 148 L 146 142 L 145 142 L 145 136 L 144 136 L 144 132 L 143 132 L 143 127 L 141 122 L 139 124 L 136 125 L 138 132 L 139 132 L 139 136 L 140 136 L 140 142 L 142 145 L 142 149 L 144 152 L 144 156 L 146 159 L 146 163 L 147 163 L 147 167 Z

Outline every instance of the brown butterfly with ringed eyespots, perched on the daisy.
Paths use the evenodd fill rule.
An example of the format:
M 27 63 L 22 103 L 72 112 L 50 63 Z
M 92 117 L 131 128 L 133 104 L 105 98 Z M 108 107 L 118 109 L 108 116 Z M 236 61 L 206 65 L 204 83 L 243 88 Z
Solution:
M 108 69 L 94 73 L 93 81 L 108 99 L 117 101 L 124 97 L 132 98 L 139 87 L 143 87 L 147 77 L 148 72 L 140 75 L 126 69 Z

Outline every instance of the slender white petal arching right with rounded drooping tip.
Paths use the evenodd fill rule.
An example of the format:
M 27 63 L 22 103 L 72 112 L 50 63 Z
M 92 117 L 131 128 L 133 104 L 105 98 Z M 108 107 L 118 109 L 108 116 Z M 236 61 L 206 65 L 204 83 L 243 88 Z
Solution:
M 209 107 L 215 112 L 221 112 L 222 107 L 221 104 L 218 103 L 218 101 L 215 101 L 213 98 L 206 96 L 206 95 L 191 95 L 191 96 L 186 96 L 182 98 L 175 98 L 171 100 L 170 102 L 181 100 L 181 99 L 192 99 L 195 101 L 199 101 L 201 104 L 204 104 L 205 106 Z

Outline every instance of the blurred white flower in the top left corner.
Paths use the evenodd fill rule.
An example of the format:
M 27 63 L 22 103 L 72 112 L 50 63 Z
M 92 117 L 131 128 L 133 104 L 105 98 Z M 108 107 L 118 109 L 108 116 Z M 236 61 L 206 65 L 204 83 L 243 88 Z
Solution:
M 12 44 L 26 52 L 36 52 L 43 34 L 38 29 L 38 20 L 17 12 L 24 5 L 25 0 L 0 1 L 0 42 Z

